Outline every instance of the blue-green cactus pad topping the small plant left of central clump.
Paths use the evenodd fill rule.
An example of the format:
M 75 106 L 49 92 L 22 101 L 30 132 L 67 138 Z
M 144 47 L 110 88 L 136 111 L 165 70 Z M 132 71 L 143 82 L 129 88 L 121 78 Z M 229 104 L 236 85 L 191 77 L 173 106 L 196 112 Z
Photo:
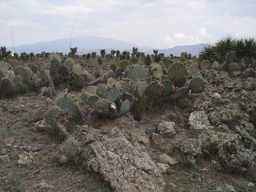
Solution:
M 68 113 L 70 115 L 74 114 L 76 112 L 76 108 L 77 108 L 76 103 L 73 100 L 73 98 L 66 94 L 58 99 L 57 106 L 64 111 L 68 110 Z

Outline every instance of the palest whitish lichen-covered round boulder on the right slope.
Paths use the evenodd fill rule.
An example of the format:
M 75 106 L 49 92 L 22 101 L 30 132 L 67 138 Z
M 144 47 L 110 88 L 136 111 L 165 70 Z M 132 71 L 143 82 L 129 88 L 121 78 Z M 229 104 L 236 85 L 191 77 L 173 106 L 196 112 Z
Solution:
M 210 128 L 208 116 L 204 111 L 194 111 L 190 113 L 188 124 L 190 124 L 190 129 Z

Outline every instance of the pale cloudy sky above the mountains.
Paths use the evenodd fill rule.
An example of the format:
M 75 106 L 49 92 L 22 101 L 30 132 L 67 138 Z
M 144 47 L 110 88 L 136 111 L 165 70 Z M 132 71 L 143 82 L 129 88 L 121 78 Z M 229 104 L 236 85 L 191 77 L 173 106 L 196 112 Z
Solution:
M 255 10 L 256 0 L 0 0 L 0 46 L 71 34 L 162 49 L 256 37 Z

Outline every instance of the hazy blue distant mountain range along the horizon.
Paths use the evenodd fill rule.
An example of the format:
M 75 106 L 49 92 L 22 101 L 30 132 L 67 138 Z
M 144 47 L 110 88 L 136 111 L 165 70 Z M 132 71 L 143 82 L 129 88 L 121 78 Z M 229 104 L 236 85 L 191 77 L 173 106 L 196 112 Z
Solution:
M 62 52 L 63 54 L 68 54 L 69 46 L 74 48 L 77 47 L 77 54 L 86 54 L 88 52 L 96 52 L 100 54 L 101 49 L 105 49 L 106 53 L 109 54 L 111 50 L 120 50 L 122 53 L 124 50 L 132 53 L 132 48 L 138 48 L 139 52 L 144 52 L 147 54 L 153 54 L 153 50 L 158 50 L 158 53 L 164 53 L 165 56 L 170 56 L 173 54 L 174 56 L 180 56 L 181 52 L 191 53 L 192 56 L 198 56 L 200 50 L 204 47 L 204 44 L 197 45 L 189 45 L 189 46 L 176 46 L 174 48 L 169 49 L 158 49 L 147 46 L 138 46 L 136 44 L 114 40 L 111 38 L 102 38 L 102 37 L 94 37 L 94 36 L 78 36 L 71 39 L 60 39 L 54 41 L 46 41 L 46 42 L 38 42 L 35 44 L 29 45 L 20 45 L 15 46 L 15 50 L 17 54 L 22 52 L 34 54 L 41 52 Z M 7 50 L 14 50 L 13 46 L 6 46 Z

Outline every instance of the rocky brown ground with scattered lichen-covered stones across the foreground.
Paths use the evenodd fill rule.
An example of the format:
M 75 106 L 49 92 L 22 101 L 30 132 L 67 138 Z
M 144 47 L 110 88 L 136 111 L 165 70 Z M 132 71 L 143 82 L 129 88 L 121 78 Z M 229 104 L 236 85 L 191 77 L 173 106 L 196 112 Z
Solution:
M 80 147 L 72 160 L 61 153 L 64 136 L 44 121 L 64 90 L 3 98 L 0 191 L 256 191 L 256 71 L 187 68 L 187 83 L 198 76 L 206 90 L 147 106 L 140 120 L 131 112 L 99 118 L 81 91 L 70 92 L 82 115 L 68 127 Z

